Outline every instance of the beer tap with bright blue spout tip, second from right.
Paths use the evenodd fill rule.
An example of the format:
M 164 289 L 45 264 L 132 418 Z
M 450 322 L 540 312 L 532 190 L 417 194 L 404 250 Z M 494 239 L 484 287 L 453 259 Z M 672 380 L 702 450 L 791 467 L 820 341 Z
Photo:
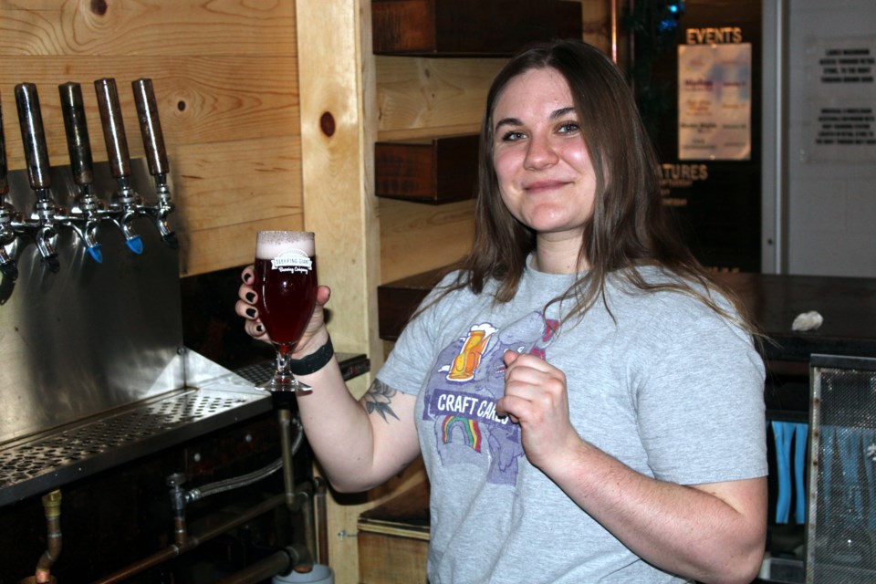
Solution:
M 116 80 L 102 78 L 94 82 L 98 94 L 100 121 L 103 124 L 103 138 L 107 144 L 107 154 L 110 157 L 110 170 L 119 185 L 119 190 L 113 193 L 110 209 L 107 214 L 119 226 L 125 236 L 125 244 L 135 254 L 143 253 L 143 241 L 137 235 L 131 222 L 137 217 L 142 202 L 130 185 L 130 155 L 128 139 L 125 136 L 125 125 L 121 119 L 119 92 Z

